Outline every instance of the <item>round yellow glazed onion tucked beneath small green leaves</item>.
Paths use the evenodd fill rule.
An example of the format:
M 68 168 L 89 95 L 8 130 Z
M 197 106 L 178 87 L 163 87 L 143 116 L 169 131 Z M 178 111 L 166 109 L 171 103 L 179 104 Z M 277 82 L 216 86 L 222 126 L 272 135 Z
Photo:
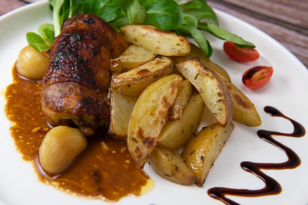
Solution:
M 49 64 L 49 55 L 39 53 L 31 46 L 24 47 L 18 54 L 16 69 L 18 73 L 31 80 L 41 80 Z

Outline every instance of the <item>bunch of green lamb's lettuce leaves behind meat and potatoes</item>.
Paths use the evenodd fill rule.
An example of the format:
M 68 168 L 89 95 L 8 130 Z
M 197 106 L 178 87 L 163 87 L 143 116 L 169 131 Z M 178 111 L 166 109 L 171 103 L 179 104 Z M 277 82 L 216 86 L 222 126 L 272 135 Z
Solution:
M 212 47 L 202 32 L 236 43 L 240 47 L 255 46 L 219 27 L 218 18 L 206 0 L 49 0 L 54 25 L 43 24 L 39 33 L 27 33 L 29 45 L 38 51 L 48 50 L 61 32 L 63 21 L 78 13 L 94 13 L 119 30 L 127 24 L 147 24 L 192 37 L 203 53 L 210 57 Z

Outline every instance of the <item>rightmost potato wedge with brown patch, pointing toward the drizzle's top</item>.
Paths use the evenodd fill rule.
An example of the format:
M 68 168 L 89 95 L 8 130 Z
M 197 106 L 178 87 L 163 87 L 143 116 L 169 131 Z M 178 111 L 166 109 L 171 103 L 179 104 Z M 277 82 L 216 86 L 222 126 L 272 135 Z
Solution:
M 227 83 L 227 87 L 233 101 L 233 120 L 248 127 L 260 126 L 262 120 L 249 98 L 232 83 Z

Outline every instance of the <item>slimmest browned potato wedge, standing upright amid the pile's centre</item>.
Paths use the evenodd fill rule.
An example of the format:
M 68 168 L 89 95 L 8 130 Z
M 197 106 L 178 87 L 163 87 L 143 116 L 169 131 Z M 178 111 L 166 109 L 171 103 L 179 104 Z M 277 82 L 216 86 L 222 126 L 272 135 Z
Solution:
M 181 82 L 177 97 L 171 107 L 169 120 L 181 119 L 185 106 L 192 94 L 192 85 L 185 79 Z

